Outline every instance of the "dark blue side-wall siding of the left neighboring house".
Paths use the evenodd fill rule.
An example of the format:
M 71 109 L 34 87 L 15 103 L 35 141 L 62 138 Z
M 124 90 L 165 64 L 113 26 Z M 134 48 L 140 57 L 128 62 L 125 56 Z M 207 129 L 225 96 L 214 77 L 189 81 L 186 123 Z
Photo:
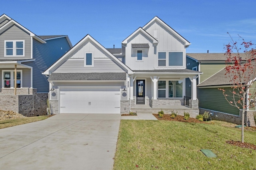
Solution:
M 33 67 L 33 88 L 37 88 L 37 92 L 49 92 L 48 78 L 42 72 L 62 57 L 70 48 L 66 37 L 50 39 L 44 44 L 33 39 L 33 58 L 36 61 L 26 64 Z

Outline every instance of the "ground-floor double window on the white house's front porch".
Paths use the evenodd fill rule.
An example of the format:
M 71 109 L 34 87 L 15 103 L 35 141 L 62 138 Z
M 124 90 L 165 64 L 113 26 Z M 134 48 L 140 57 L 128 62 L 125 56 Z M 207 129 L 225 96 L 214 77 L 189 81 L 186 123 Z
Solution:
M 158 98 L 182 98 L 183 80 L 158 80 Z

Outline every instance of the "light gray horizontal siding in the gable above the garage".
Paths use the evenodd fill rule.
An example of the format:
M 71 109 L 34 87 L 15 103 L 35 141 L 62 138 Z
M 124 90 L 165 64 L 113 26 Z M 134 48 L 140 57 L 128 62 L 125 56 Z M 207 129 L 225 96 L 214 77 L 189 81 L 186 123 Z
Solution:
M 124 72 L 124 70 L 110 59 L 95 60 L 93 67 L 84 66 L 84 59 L 69 59 L 54 72 Z

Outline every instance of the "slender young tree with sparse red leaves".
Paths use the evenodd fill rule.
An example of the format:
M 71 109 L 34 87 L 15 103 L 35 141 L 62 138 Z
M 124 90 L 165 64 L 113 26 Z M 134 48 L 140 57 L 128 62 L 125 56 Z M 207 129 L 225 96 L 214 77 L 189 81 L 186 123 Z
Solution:
M 230 79 L 232 90 L 226 92 L 222 90 L 224 97 L 231 106 L 242 109 L 242 143 L 244 143 L 244 114 L 245 111 L 255 104 L 256 89 L 254 81 L 256 80 L 256 48 L 252 48 L 252 42 L 246 42 L 240 35 L 242 43 L 238 45 L 233 40 L 231 35 L 231 42 L 225 45 L 226 50 L 226 78 Z M 243 50 L 243 53 L 240 51 Z M 231 98 L 231 101 L 230 101 Z M 247 123 L 246 123 L 247 126 Z

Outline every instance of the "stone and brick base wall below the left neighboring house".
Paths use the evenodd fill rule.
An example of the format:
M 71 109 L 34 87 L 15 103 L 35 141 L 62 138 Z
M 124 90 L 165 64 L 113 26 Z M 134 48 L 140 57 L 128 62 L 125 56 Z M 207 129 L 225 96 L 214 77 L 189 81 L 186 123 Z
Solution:
M 20 94 L 19 94 L 20 93 Z M 16 111 L 24 116 L 47 115 L 48 93 L 36 93 L 36 89 L 21 88 L 2 89 L 0 93 L 0 109 Z

